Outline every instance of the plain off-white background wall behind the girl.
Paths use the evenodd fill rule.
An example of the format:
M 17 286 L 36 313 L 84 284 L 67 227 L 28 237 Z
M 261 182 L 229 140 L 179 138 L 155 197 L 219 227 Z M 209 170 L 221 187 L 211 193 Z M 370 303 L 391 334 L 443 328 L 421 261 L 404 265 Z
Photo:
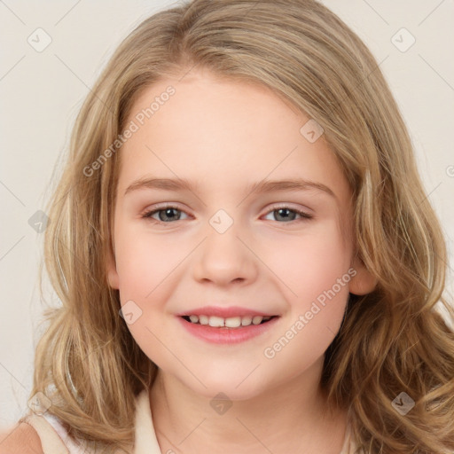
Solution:
M 260 0 L 259 0 L 260 1 Z M 454 1 L 324 0 L 369 46 L 408 124 L 427 197 L 450 250 L 452 294 L 454 215 Z M 51 176 L 67 149 L 82 100 L 121 40 L 146 17 L 175 2 L 0 0 L 1 121 L 0 427 L 27 409 L 42 304 L 37 267 L 40 233 L 28 219 L 43 207 Z M 42 27 L 51 44 L 27 43 Z M 400 51 L 402 27 L 416 42 Z M 410 35 L 395 35 L 409 43 Z M 48 301 L 56 301 L 46 292 Z

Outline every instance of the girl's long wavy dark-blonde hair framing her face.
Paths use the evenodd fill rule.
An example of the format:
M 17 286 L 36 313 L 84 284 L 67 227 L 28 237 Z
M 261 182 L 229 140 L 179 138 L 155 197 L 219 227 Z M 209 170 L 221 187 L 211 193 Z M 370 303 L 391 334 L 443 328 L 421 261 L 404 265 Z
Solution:
M 454 450 L 454 313 L 443 296 L 442 229 L 379 65 L 314 0 L 194 0 L 146 19 L 114 52 L 77 117 L 47 208 L 44 263 L 61 307 L 44 313 L 30 397 L 47 395 L 49 413 L 98 449 L 133 446 L 135 398 L 157 369 L 119 316 L 106 277 L 120 153 L 90 176 L 84 169 L 121 134 L 145 88 L 195 66 L 266 85 L 315 119 L 348 178 L 356 254 L 379 284 L 350 294 L 326 351 L 330 405 L 348 409 L 366 453 Z M 391 404 L 401 392 L 415 401 L 406 415 Z

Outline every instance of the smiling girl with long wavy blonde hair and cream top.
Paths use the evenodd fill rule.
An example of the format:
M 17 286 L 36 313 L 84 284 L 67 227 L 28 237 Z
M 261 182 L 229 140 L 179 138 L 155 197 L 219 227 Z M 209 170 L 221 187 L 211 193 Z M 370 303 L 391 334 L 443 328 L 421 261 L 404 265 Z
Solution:
M 0 452 L 454 452 L 442 231 L 377 62 L 323 5 L 145 20 L 48 213 L 62 307 Z

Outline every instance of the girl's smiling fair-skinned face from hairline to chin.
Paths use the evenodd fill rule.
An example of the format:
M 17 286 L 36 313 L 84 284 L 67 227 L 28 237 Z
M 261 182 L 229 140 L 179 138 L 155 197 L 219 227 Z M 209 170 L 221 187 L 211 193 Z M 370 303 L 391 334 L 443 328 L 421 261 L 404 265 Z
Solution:
M 348 293 L 373 287 L 352 262 L 351 192 L 325 137 L 266 87 L 207 72 L 153 84 L 130 121 L 108 278 L 146 356 L 232 400 L 321 364 Z

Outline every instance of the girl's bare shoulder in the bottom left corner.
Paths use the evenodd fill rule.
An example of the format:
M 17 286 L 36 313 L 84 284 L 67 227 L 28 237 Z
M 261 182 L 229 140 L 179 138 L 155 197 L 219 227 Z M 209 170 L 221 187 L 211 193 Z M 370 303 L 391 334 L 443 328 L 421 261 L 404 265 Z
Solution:
M 26 422 L 0 430 L 0 454 L 41 454 L 43 447 L 35 429 Z

